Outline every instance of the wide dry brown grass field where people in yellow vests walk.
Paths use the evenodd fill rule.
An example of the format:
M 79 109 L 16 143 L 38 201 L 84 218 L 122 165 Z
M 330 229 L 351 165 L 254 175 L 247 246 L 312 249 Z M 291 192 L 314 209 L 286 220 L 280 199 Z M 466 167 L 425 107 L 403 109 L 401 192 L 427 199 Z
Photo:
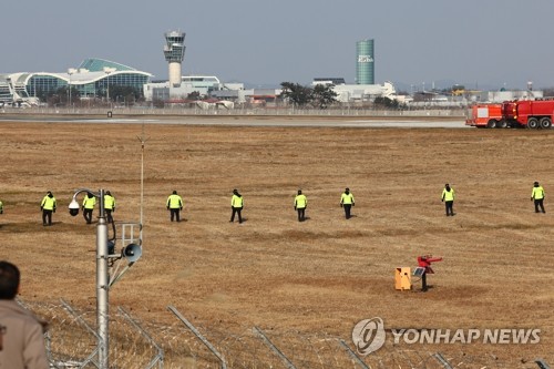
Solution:
M 0 259 L 20 266 L 22 300 L 94 308 L 95 226 L 66 207 L 76 188 L 104 188 L 116 221 L 138 221 L 142 129 L 0 123 Z M 112 288 L 112 306 L 165 321 L 173 305 L 219 331 L 258 326 L 350 346 L 356 322 L 372 317 L 386 328 L 538 328 L 537 345 L 400 349 L 554 363 L 554 131 L 146 124 L 144 134 L 143 258 Z M 545 215 L 530 202 L 534 181 Z M 447 182 L 454 217 L 440 202 Z M 339 207 L 347 186 L 349 221 Z M 242 225 L 229 223 L 233 188 L 245 199 Z M 181 223 L 165 208 L 173 189 L 185 202 Z M 39 208 L 47 191 L 58 199 L 52 227 Z M 394 268 L 423 254 L 444 258 L 432 288 L 396 290 Z

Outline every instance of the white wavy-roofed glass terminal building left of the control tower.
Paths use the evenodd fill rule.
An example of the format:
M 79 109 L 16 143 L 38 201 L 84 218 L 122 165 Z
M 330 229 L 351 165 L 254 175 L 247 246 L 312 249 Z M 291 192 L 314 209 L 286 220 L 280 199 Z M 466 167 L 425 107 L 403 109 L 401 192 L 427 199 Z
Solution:
M 0 102 L 35 105 L 41 96 L 71 85 L 81 99 L 109 96 L 110 86 L 130 86 L 142 93 L 152 74 L 103 59 L 85 59 L 65 73 L 20 72 L 0 74 Z

